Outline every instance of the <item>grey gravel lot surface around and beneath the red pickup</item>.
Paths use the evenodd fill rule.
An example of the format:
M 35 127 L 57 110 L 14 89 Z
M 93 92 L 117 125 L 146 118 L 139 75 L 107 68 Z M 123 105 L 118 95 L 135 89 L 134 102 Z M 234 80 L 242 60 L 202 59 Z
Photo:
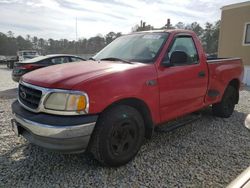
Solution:
M 0 67 L 0 187 L 225 187 L 250 166 L 249 90 L 241 91 L 230 118 L 213 117 L 207 108 L 193 123 L 156 132 L 132 162 L 114 169 L 86 154 L 52 153 L 16 137 L 10 128 L 15 95 L 3 94 L 16 87 L 9 74 Z

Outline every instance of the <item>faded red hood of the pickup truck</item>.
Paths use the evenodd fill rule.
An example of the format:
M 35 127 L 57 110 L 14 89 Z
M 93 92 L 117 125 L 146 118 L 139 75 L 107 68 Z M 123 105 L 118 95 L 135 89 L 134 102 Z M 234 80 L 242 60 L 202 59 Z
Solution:
M 49 66 L 25 74 L 22 81 L 46 88 L 72 89 L 75 85 L 128 69 L 145 66 L 142 63 L 126 64 L 114 61 L 84 61 Z

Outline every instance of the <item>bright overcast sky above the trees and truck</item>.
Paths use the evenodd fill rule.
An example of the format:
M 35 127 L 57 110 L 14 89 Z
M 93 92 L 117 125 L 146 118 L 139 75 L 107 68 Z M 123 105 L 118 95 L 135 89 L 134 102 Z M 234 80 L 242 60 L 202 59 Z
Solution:
M 167 18 L 200 24 L 220 19 L 222 6 L 241 0 L 0 0 L 0 32 L 43 38 L 89 38 L 109 31 L 131 32 L 146 21 L 162 27 Z

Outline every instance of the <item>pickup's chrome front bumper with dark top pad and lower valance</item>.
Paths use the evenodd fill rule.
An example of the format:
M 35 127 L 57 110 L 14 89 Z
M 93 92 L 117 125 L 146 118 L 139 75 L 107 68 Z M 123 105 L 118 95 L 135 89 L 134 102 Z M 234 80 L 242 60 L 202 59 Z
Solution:
M 12 111 L 18 134 L 38 146 L 79 153 L 87 149 L 97 115 L 59 116 L 27 111 L 15 101 Z

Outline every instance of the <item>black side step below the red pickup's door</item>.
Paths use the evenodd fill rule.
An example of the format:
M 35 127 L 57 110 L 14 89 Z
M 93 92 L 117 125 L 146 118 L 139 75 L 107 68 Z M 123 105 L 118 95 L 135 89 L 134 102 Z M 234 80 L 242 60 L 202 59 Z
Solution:
M 192 113 L 155 127 L 156 132 L 170 132 L 201 118 L 200 113 Z

